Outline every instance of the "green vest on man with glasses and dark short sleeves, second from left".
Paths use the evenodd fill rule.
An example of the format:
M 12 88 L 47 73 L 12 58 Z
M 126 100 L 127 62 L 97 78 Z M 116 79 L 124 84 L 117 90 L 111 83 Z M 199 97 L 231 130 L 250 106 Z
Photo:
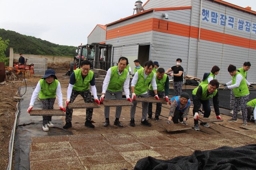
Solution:
M 75 73 L 75 77 L 76 77 L 76 82 L 73 86 L 73 90 L 76 90 L 78 92 L 88 90 L 90 81 L 92 80 L 94 73 L 90 70 L 88 72 L 88 74 L 86 75 L 86 77 L 84 78 L 84 81 L 82 78 L 81 68 L 74 70 L 74 73 Z

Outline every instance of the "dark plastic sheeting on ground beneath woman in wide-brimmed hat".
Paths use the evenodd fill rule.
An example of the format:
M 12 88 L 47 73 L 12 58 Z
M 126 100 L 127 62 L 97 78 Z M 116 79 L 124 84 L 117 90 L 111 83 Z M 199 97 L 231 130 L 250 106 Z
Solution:
M 14 169 L 15 170 L 30 170 L 30 144 L 32 137 L 42 136 L 58 136 L 58 135 L 72 135 L 71 131 L 63 129 L 63 121 L 59 116 L 53 116 L 52 122 L 54 127 L 49 128 L 49 131 L 42 129 L 42 116 L 30 116 L 27 109 L 30 104 L 30 98 L 35 87 L 21 87 L 19 104 L 19 115 L 17 119 L 17 130 L 15 134 L 15 156 L 14 156 Z M 58 102 L 56 99 L 55 102 Z M 38 100 L 35 101 L 33 109 L 42 109 L 42 103 Z

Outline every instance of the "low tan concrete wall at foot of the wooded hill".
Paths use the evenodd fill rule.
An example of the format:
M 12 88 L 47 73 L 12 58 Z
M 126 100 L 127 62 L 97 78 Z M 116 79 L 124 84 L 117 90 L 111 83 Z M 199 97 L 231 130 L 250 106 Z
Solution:
M 23 54 L 25 59 L 29 58 L 46 58 L 47 67 L 51 68 L 63 68 L 70 69 L 70 62 L 74 61 L 73 57 L 59 57 L 59 56 L 46 56 L 46 55 L 32 55 L 32 54 Z M 14 53 L 14 63 L 18 63 L 20 58 L 19 54 Z

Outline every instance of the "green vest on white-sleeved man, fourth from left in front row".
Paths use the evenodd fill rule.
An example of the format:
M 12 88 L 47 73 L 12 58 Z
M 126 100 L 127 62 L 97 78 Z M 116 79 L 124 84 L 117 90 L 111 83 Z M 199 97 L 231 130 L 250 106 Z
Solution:
M 148 90 L 148 83 L 151 82 L 154 76 L 154 72 L 151 72 L 146 80 L 144 78 L 144 68 L 138 70 L 138 82 L 135 84 L 135 94 L 140 95 L 146 93 Z

